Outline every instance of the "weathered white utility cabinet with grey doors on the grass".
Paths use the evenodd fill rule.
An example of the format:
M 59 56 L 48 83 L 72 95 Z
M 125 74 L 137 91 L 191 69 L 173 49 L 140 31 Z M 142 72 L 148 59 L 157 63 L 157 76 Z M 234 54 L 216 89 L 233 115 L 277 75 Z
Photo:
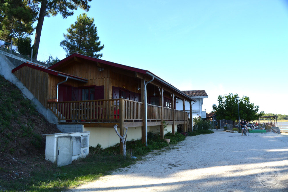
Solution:
M 69 165 L 73 160 L 89 154 L 90 131 L 44 134 L 46 136 L 45 159 L 57 166 Z

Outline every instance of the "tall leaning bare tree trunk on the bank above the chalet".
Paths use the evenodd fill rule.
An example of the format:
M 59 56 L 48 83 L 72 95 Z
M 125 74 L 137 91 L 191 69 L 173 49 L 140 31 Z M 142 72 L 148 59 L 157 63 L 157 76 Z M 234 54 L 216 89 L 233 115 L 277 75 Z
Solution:
M 36 31 L 35 31 L 35 39 L 34 39 L 35 55 L 33 56 L 33 59 L 37 59 L 38 49 L 39 49 L 39 44 L 40 44 L 41 31 L 42 31 L 42 26 L 43 26 L 45 14 L 46 14 L 46 7 L 47 7 L 47 0 L 42 0 L 40 12 L 39 12 L 38 23 L 37 23 L 37 27 L 36 27 Z M 32 57 L 32 55 L 31 55 L 31 57 Z

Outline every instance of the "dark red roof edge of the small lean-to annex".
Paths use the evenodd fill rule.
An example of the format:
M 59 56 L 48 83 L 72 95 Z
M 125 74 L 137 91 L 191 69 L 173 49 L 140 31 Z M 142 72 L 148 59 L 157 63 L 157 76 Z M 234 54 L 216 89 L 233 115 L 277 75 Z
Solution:
M 36 65 L 36 64 L 33 64 L 33 63 L 28 63 L 28 62 L 24 62 L 21 65 L 19 65 L 18 67 L 12 69 L 12 73 L 14 73 L 15 71 L 19 70 L 20 68 L 22 68 L 24 66 L 27 66 L 27 67 L 30 67 L 30 68 L 33 68 L 33 69 L 36 69 L 36 70 L 40 70 L 40 71 L 43 71 L 43 72 L 46 72 L 46 73 L 49 73 L 49 74 L 52 74 L 52 75 L 55 75 L 55 76 L 62 76 L 62 77 L 63 76 L 66 77 L 67 76 L 70 79 L 78 80 L 78 81 L 82 81 L 82 82 L 87 82 L 88 81 L 88 79 L 85 79 L 85 78 L 82 78 L 82 77 L 77 77 L 77 76 L 74 76 L 74 75 L 71 75 L 71 74 L 55 71 L 55 70 L 52 70 L 52 69 L 48 69 L 47 67 L 44 67 L 44 66 L 41 66 L 41 65 Z

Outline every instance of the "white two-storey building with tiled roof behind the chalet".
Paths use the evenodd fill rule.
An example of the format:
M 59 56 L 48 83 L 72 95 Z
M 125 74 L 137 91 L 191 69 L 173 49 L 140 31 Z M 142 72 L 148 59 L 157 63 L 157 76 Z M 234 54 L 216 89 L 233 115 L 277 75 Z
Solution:
M 192 90 L 192 91 L 182 91 L 186 95 L 195 99 L 196 102 L 192 102 L 192 117 L 206 118 L 206 110 L 202 111 L 202 105 L 204 98 L 208 98 L 208 95 L 205 90 Z M 183 103 L 181 99 L 176 99 L 176 109 L 183 110 Z M 185 111 L 190 112 L 189 102 L 185 102 Z

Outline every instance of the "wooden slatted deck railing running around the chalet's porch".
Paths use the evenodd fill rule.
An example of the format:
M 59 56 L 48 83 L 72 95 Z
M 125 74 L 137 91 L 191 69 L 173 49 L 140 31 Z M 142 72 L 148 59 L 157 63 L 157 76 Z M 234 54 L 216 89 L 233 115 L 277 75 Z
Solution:
M 48 102 L 50 109 L 58 120 L 66 122 L 119 122 L 120 114 L 123 114 L 124 121 L 143 121 L 144 104 L 128 99 L 103 99 L 89 101 L 62 101 Z M 123 106 L 123 107 L 122 107 Z M 147 104 L 147 120 L 161 121 L 161 106 Z M 163 107 L 163 119 L 165 121 L 173 120 L 173 111 L 175 112 L 175 121 L 183 121 L 184 111 L 173 110 Z

